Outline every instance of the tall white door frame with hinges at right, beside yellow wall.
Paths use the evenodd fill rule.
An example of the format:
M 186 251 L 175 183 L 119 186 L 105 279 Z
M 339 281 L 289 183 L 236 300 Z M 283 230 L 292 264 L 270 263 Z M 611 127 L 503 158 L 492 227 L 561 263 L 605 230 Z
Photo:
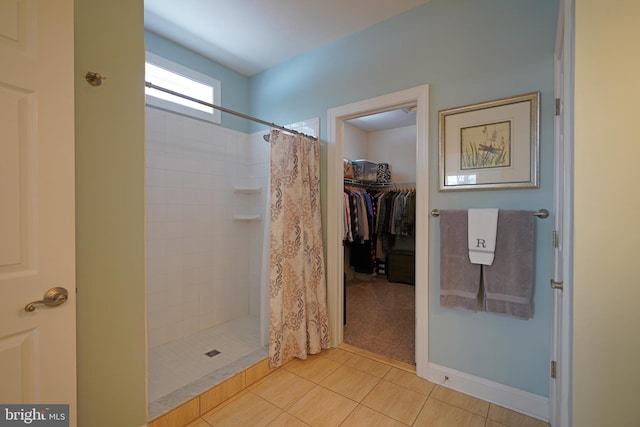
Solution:
M 554 210 L 557 244 L 553 281 L 562 289 L 553 292 L 551 360 L 556 378 L 549 381 L 549 423 L 571 425 L 571 316 L 573 259 L 573 0 L 561 0 L 554 53 L 555 98 L 559 100 L 554 123 Z

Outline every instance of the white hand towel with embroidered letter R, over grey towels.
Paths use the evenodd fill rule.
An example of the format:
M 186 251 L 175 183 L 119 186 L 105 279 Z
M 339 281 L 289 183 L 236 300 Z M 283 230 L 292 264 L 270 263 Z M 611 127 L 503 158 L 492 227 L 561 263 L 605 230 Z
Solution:
M 491 265 L 496 251 L 498 209 L 469 209 L 469 260 Z

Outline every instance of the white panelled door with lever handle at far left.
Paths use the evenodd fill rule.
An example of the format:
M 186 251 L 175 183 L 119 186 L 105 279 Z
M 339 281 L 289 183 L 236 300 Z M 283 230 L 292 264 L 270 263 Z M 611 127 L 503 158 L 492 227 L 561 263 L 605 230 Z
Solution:
M 73 74 L 73 1 L 0 1 L 0 403 L 75 426 Z

